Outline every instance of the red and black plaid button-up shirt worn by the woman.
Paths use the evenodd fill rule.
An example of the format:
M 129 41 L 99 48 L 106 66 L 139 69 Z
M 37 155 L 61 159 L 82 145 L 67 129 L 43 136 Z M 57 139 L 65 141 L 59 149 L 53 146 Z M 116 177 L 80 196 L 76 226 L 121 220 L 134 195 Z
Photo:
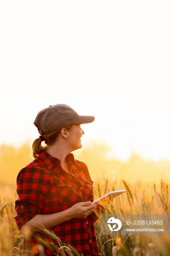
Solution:
M 71 174 L 62 169 L 59 159 L 43 151 L 38 158 L 24 167 L 17 177 L 18 200 L 15 202 L 16 223 L 19 227 L 36 214 L 64 211 L 78 202 L 93 202 L 93 181 L 85 163 L 66 158 Z M 70 241 L 86 256 L 98 255 L 92 215 L 85 219 L 70 219 L 51 228 L 65 241 Z M 37 243 L 31 239 L 29 244 Z M 24 247 L 28 244 L 24 243 Z M 52 256 L 50 249 L 45 254 Z

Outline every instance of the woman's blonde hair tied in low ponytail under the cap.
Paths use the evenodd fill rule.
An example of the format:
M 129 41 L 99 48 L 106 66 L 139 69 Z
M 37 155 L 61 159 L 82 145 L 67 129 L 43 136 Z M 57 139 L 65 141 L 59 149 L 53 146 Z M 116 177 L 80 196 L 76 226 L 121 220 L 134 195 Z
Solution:
M 65 127 L 65 129 L 70 130 L 72 126 L 73 125 L 70 124 L 67 127 Z M 45 139 L 45 144 L 46 145 L 53 144 L 56 141 L 61 130 L 62 129 L 59 129 L 58 131 L 55 131 L 55 132 L 50 132 L 48 134 L 43 134 L 43 138 Z M 42 140 L 40 138 L 35 139 L 34 142 L 32 143 L 32 156 L 34 158 L 37 158 L 42 151 L 46 150 L 47 146 L 42 146 L 41 143 L 42 143 Z

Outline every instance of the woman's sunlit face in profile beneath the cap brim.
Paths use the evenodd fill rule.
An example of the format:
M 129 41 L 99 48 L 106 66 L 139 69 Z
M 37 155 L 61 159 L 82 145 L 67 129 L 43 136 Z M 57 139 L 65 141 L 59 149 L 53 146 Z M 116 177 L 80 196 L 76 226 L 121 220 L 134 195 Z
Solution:
M 73 124 L 72 129 L 68 131 L 67 142 L 70 144 L 70 147 L 73 148 L 72 151 L 82 147 L 81 136 L 83 134 L 84 131 L 81 129 L 80 124 Z

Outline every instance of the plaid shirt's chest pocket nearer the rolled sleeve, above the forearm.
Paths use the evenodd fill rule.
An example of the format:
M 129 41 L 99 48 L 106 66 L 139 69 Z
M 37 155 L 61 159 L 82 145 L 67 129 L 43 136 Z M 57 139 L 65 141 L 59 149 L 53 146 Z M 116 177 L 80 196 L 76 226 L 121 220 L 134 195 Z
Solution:
M 79 202 L 78 193 L 76 189 L 68 181 L 58 180 L 56 189 L 59 203 L 65 205 Z

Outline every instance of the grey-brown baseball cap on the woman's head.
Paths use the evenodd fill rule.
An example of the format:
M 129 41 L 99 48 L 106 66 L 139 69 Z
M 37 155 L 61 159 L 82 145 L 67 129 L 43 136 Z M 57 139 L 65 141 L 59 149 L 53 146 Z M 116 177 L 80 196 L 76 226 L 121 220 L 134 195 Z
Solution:
M 34 121 L 40 135 L 62 129 L 70 124 L 88 124 L 94 116 L 79 116 L 77 112 L 65 104 L 49 106 L 41 110 Z

